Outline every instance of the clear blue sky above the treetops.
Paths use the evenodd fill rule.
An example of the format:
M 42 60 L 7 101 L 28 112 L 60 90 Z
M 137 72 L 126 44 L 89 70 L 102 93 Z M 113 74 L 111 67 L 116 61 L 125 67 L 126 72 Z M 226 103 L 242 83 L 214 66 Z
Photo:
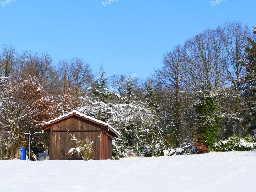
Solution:
M 1 0 L 0 0 L 1 1 Z M 105 0 L 106 1 L 106 0 Z M 5 2 L 2 0 L 2 2 Z M 216 3 L 215 3 L 216 4 Z M 59 59 L 82 58 L 94 72 L 150 76 L 162 56 L 206 28 L 256 26 L 255 0 L 13 0 L 0 4 L 0 45 Z

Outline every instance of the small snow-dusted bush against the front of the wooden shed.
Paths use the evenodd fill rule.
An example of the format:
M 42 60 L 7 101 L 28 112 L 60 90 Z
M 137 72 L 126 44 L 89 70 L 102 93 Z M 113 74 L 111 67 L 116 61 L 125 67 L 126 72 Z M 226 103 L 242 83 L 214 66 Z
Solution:
M 76 137 L 74 135 L 71 135 L 72 136 L 72 139 L 71 140 L 74 140 L 75 143 L 76 143 L 76 148 L 71 148 L 67 155 L 68 154 L 75 154 L 75 153 L 78 153 L 82 158 L 83 160 L 87 161 L 90 159 L 90 155 L 92 153 L 92 144 L 93 144 L 93 141 L 92 142 L 89 142 L 89 139 L 87 138 L 84 142 L 83 141 L 80 141 L 78 139 L 76 139 Z

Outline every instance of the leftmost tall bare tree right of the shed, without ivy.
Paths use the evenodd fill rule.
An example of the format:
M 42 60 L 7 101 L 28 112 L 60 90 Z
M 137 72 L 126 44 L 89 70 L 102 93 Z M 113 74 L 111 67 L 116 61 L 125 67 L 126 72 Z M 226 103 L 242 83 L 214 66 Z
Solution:
M 171 130 L 176 138 L 176 146 L 180 146 L 182 120 L 184 108 L 184 81 L 186 74 L 186 48 L 176 46 L 172 52 L 163 56 L 163 68 L 155 71 L 154 81 L 164 91 L 161 98 L 161 107 L 166 116 L 166 128 Z

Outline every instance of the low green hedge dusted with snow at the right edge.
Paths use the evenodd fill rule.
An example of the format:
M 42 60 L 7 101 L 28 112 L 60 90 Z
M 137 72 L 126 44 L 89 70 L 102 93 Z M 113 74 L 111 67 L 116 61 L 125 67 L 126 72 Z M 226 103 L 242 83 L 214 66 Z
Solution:
M 213 143 L 214 151 L 250 151 L 253 148 L 256 148 L 256 143 L 250 135 L 242 139 L 231 136 L 228 139 Z

